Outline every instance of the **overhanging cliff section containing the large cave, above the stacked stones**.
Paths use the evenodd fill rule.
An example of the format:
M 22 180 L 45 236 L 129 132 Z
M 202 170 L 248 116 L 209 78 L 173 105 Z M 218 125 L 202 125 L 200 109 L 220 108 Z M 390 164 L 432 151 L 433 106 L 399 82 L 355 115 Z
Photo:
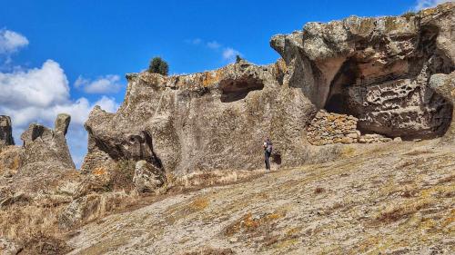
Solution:
M 308 23 L 270 44 L 288 64 L 284 83 L 318 108 L 358 117 L 362 132 L 437 137 L 448 130 L 453 106 L 429 80 L 454 70 L 454 6 Z

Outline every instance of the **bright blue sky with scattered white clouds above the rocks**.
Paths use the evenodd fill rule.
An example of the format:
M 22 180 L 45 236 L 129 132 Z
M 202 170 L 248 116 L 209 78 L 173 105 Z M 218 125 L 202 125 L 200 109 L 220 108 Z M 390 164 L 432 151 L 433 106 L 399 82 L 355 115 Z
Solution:
M 147 68 L 152 56 L 165 58 L 171 74 L 215 69 L 235 54 L 269 64 L 278 59 L 268 44 L 273 34 L 310 21 L 400 15 L 443 1 L 1 2 L 0 93 L 15 93 L 0 94 L 0 114 L 12 115 L 21 143 L 28 123 L 52 125 L 57 112 L 72 113 L 68 141 L 80 164 L 89 110 L 100 103 L 115 111 L 125 74 Z

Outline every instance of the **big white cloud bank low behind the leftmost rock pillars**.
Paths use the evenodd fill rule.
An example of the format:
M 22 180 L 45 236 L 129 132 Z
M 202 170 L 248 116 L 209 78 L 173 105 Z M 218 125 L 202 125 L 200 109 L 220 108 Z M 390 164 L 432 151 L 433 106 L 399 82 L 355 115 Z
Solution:
M 115 80 L 115 79 L 114 79 Z M 58 113 L 71 115 L 66 135 L 76 166 L 86 154 L 84 123 L 95 105 L 107 112 L 116 112 L 115 99 L 102 96 L 96 103 L 85 97 L 70 98 L 66 74 L 58 63 L 47 60 L 40 68 L 0 73 L 0 114 L 9 115 L 13 122 L 15 142 L 30 123 L 42 123 L 53 128 Z

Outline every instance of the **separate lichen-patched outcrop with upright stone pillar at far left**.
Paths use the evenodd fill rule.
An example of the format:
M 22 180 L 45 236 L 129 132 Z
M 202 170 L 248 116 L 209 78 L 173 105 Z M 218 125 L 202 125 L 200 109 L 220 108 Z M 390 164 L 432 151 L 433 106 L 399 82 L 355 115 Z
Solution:
M 56 130 L 32 123 L 21 135 L 22 146 L 5 146 L 0 151 L 0 187 L 40 191 L 66 172 L 76 171 L 65 138 L 69 119 L 69 115 L 59 114 Z

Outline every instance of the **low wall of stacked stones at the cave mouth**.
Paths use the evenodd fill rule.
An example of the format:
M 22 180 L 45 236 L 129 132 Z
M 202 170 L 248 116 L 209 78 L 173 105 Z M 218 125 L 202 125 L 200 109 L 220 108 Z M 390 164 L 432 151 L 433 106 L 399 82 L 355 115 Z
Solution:
M 392 141 L 392 139 L 376 133 L 362 135 L 357 130 L 358 121 L 358 118 L 351 115 L 320 110 L 308 126 L 308 142 L 313 145 L 326 145 Z

